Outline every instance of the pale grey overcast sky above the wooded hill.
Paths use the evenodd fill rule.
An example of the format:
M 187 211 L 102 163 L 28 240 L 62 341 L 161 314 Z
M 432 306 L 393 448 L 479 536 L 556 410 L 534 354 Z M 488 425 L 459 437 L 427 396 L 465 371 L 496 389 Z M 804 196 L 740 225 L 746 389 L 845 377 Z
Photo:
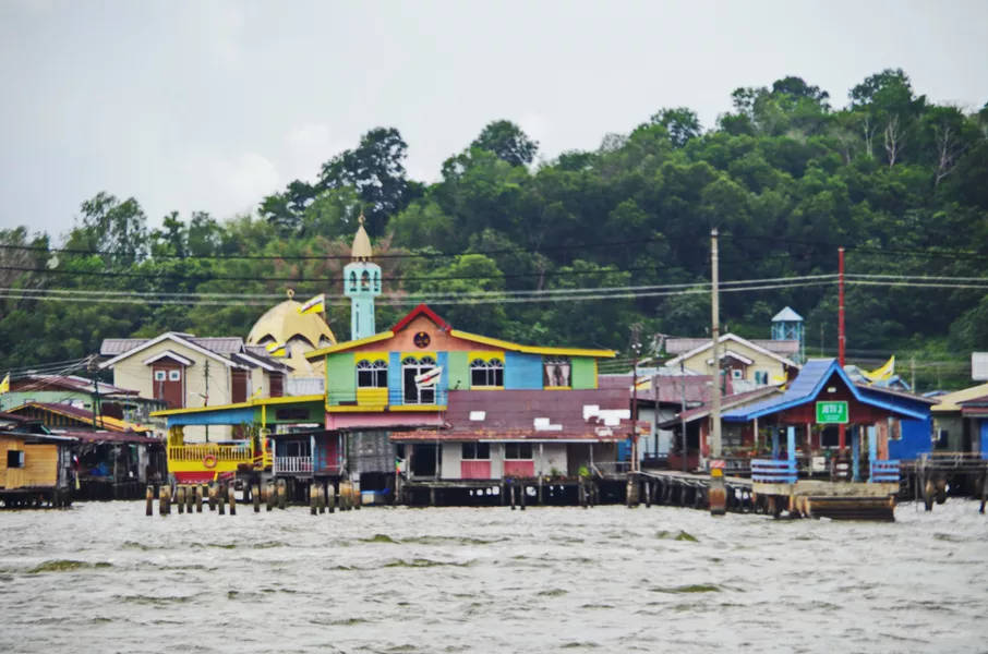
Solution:
M 662 107 L 704 126 L 788 74 L 835 107 L 884 68 L 988 100 L 988 1 L 0 0 L 0 227 L 58 237 L 99 191 L 219 219 L 396 126 L 410 177 L 506 118 L 552 159 Z

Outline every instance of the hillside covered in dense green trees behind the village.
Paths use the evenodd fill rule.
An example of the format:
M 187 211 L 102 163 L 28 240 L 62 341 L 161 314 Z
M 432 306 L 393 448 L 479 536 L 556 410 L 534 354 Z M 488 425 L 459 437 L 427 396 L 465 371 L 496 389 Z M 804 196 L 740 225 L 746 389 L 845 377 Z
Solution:
M 703 335 L 716 227 L 721 280 L 746 282 L 721 298 L 732 331 L 767 338 L 791 305 L 810 353 L 833 354 L 843 245 L 851 359 L 896 352 L 917 358 L 920 387 L 963 383 L 969 351 L 988 349 L 988 105 L 918 90 L 899 70 L 846 101 L 785 77 L 735 90 L 715 125 L 658 109 L 549 161 L 498 120 L 429 185 L 408 178 L 400 133 L 376 128 L 317 181 L 229 220 L 172 214 L 150 229 L 140 198 L 99 193 L 63 242 L 28 217 L 0 232 L 0 371 L 105 337 L 245 336 L 287 287 L 334 298 L 346 339 L 339 277 L 363 210 L 385 275 L 378 326 L 425 300 L 457 328 L 522 342 L 627 352 L 634 326 Z

